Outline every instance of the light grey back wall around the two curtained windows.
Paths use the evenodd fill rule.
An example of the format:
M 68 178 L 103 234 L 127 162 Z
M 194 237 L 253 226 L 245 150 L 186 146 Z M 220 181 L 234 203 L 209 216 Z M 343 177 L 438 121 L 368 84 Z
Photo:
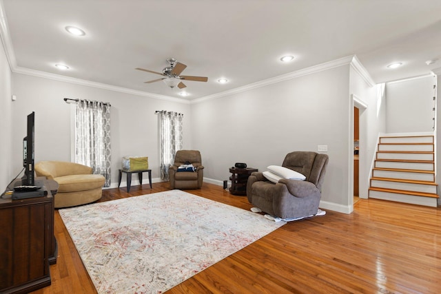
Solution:
M 35 160 L 70 161 L 70 107 L 63 98 L 82 98 L 110 102 L 112 137 L 112 187 L 118 185 L 121 158 L 127 155 L 149 156 L 152 178 L 160 178 L 158 116 L 156 110 L 176 111 L 184 114 L 184 148 L 189 148 L 192 131 L 188 103 L 160 100 L 126 94 L 97 87 L 54 81 L 26 74 L 12 74 L 12 151 L 3 154 L 12 159 L 12 173 L 21 169 L 21 142 L 25 136 L 26 116 L 35 112 Z M 3 129 L 3 128 L 2 128 Z M 9 158 L 9 157 L 8 157 Z M 9 176 L 8 176 L 9 178 Z M 133 179 L 136 183 L 137 177 Z M 158 180 L 158 179 L 156 179 Z M 125 178 L 121 185 L 125 185 Z

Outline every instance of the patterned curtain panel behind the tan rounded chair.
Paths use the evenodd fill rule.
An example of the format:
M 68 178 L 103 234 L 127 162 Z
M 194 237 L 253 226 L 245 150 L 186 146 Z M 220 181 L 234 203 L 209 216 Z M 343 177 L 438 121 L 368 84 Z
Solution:
M 79 100 L 75 109 L 75 162 L 92 167 L 110 187 L 110 104 Z

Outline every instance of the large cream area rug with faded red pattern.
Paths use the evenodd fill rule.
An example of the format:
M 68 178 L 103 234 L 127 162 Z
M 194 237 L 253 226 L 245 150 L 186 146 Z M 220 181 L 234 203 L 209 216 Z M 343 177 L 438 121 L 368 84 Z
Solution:
M 285 224 L 180 190 L 59 213 L 98 293 L 163 293 Z

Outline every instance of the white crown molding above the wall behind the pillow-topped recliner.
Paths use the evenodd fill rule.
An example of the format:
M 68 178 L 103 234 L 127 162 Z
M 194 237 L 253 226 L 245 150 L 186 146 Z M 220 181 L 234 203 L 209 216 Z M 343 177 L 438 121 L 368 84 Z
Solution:
M 209 96 L 204 96 L 201 98 L 196 98 L 196 99 L 190 101 L 190 104 L 201 103 L 201 102 L 205 102 L 208 100 L 212 100 L 212 99 L 216 99 L 216 98 L 220 98 L 220 97 L 224 97 L 224 96 L 229 96 L 232 94 L 238 94 L 240 92 L 249 91 L 252 89 L 256 89 L 258 87 L 265 87 L 267 85 L 272 85 L 275 83 L 280 83 L 283 81 L 291 80 L 292 78 L 298 78 L 300 76 L 306 76 L 308 74 L 314 74 L 316 72 L 330 70 L 331 68 L 340 67 L 342 65 L 348 65 L 349 63 L 351 63 L 353 61 L 353 57 L 354 56 L 346 56 L 341 59 L 336 59 L 334 61 L 329 61 L 329 62 L 321 63 L 318 65 L 313 65 L 311 67 L 305 67 L 302 70 L 297 70 L 296 72 L 289 72 L 288 74 L 282 74 L 280 76 L 275 76 L 274 78 L 267 78 L 266 80 L 258 81 L 256 83 L 245 85 L 243 87 L 236 87 L 235 89 L 227 90 L 225 92 L 220 92 L 220 93 L 212 94 Z

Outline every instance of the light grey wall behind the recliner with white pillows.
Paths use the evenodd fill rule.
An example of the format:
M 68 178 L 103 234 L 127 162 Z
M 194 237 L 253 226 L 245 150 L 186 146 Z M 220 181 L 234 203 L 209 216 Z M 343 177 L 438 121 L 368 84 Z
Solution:
M 346 207 L 349 166 L 349 65 L 192 105 L 192 147 L 204 176 L 227 180 L 246 162 L 265 171 L 290 151 L 328 145 L 322 201 Z

